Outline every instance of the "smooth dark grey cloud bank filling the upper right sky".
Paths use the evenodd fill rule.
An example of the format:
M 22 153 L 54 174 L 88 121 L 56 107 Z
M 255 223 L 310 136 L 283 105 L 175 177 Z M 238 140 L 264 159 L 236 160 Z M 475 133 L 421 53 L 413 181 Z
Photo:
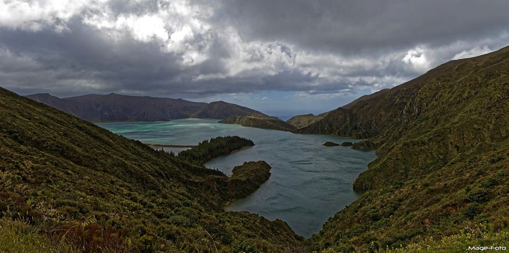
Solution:
M 226 0 L 215 18 L 235 23 L 248 40 L 359 53 L 490 36 L 507 29 L 508 7 L 506 0 Z

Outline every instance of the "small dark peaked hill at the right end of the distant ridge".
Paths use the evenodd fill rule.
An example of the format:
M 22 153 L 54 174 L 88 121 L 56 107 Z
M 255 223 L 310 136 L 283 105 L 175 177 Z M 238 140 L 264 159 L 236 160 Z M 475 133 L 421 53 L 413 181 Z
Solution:
M 196 113 L 192 114 L 190 118 L 208 118 L 222 120 L 233 116 L 257 116 L 262 118 L 273 118 L 260 113 L 260 111 L 232 103 L 227 103 L 224 101 L 211 102 L 203 106 Z

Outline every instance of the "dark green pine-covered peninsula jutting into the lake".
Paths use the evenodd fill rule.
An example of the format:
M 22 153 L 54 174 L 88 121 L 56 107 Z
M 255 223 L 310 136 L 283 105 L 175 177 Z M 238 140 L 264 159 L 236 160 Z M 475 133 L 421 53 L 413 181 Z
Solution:
M 219 136 L 204 140 L 192 149 L 181 151 L 177 157 L 193 164 L 202 165 L 213 158 L 228 155 L 232 151 L 248 146 L 254 146 L 250 139 L 239 136 Z

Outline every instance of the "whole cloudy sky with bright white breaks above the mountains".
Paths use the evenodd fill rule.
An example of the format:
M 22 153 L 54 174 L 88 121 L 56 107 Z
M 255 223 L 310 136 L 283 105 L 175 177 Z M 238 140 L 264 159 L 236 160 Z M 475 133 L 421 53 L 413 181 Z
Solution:
M 507 0 L 0 0 L 0 87 L 323 113 L 509 45 Z

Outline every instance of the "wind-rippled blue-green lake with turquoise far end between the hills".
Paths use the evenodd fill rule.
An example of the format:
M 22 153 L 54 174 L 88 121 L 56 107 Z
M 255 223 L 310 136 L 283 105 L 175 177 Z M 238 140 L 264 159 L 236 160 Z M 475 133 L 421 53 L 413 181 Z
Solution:
M 352 182 L 374 160 L 373 151 L 325 147 L 325 142 L 356 142 L 331 135 L 294 134 L 283 131 L 220 124 L 213 119 L 171 122 L 100 123 L 125 137 L 143 143 L 196 145 L 220 135 L 250 138 L 254 147 L 205 164 L 231 175 L 244 161 L 271 164 L 271 177 L 253 194 L 231 203 L 227 210 L 248 211 L 267 219 L 282 219 L 304 237 L 317 233 L 337 211 L 357 200 Z M 165 148 L 166 150 L 166 148 Z

